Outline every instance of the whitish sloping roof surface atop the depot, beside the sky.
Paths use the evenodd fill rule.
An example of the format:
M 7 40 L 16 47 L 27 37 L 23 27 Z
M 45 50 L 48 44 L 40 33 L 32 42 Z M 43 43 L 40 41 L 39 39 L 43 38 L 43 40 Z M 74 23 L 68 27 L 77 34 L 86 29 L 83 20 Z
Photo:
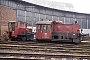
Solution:
M 70 3 L 62 3 L 62 2 L 55 2 L 55 1 L 48 1 L 48 0 L 22 0 L 32 4 L 49 7 L 58 10 L 65 10 L 65 11 L 74 11 L 74 7 Z

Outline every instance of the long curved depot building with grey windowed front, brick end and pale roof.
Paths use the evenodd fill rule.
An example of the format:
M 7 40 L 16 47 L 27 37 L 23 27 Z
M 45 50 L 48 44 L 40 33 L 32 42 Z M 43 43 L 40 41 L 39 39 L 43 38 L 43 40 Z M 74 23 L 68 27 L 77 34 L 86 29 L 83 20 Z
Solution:
M 70 3 L 48 0 L 0 0 L 0 35 L 8 30 L 8 21 L 27 22 L 35 27 L 40 20 L 61 20 L 64 24 L 78 21 L 81 29 L 90 29 L 90 14 L 75 12 Z

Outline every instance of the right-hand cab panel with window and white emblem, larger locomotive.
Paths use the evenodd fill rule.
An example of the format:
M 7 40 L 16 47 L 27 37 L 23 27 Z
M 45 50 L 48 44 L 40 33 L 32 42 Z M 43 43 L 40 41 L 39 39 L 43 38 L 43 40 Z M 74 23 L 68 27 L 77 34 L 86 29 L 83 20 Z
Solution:
M 42 39 L 45 40 L 50 40 L 51 39 L 51 26 L 48 24 L 43 25 L 43 30 L 42 30 Z

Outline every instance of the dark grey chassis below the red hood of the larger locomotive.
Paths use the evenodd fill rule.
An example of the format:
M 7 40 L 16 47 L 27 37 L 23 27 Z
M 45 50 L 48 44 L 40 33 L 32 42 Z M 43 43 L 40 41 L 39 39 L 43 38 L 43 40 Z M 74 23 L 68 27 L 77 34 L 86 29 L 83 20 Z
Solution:
M 68 40 L 70 42 L 79 43 L 81 40 L 87 38 L 87 35 L 82 35 L 80 33 L 52 33 L 52 40 Z

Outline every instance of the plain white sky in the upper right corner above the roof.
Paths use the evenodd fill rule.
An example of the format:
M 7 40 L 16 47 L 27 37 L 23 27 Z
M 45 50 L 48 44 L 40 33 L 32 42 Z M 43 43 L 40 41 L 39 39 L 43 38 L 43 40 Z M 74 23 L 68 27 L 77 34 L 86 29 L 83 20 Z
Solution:
M 56 2 L 71 3 L 76 12 L 90 14 L 90 0 L 50 0 Z

